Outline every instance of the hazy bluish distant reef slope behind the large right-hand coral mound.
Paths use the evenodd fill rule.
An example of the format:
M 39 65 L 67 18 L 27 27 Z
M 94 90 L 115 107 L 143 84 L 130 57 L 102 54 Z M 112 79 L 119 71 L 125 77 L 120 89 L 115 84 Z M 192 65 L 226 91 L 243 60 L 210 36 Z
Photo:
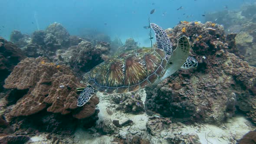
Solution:
M 256 15 L 252 11 L 255 8 L 256 3 L 253 3 L 243 5 L 240 10 L 225 10 L 206 15 L 207 21 L 223 24 L 226 33 L 236 33 L 237 48 L 236 52 L 232 52 L 253 66 L 256 66 Z M 233 49 L 230 46 L 229 48 Z

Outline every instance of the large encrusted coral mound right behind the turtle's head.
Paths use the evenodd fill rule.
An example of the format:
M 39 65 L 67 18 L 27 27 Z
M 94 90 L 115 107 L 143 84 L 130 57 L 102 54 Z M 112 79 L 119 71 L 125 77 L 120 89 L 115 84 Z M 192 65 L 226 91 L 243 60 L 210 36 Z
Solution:
M 184 27 L 185 33 L 182 32 Z M 228 95 L 234 92 L 236 106 L 256 122 L 252 93 L 256 69 L 228 52 L 223 27 L 211 22 L 181 22 L 166 32 L 172 43 L 181 35 L 190 37 L 190 55 L 198 60 L 198 67 L 188 72 L 178 71 L 156 87 L 145 88 L 147 113 L 159 113 L 174 122 L 221 124 Z

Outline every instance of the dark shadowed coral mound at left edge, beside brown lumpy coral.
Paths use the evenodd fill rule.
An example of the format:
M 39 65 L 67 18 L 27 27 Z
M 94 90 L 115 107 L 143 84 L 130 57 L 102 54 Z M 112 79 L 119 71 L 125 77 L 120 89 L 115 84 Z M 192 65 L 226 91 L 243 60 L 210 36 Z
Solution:
M 26 56 L 17 46 L 0 37 L 0 92 L 3 91 L 4 79 L 7 78 L 14 66 L 25 58 Z

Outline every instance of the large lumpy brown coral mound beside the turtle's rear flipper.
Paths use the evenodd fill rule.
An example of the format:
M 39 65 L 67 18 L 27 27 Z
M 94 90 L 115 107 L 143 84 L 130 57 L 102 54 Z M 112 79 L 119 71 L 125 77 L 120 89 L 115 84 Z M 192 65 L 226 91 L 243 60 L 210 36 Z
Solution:
M 80 115 L 77 115 L 79 110 L 76 109 L 76 88 L 82 86 L 84 85 L 73 75 L 69 67 L 55 65 L 43 57 L 21 61 L 5 80 L 4 85 L 8 89 L 29 90 L 14 105 L 10 111 L 11 117 L 33 115 L 49 106 L 49 112 L 62 115 L 74 112 L 74 117 L 79 119 L 93 115 L 95 105 L 98 104 L 95 97 L 95 101 L 90 102 L 90 106 L 80 108 Z

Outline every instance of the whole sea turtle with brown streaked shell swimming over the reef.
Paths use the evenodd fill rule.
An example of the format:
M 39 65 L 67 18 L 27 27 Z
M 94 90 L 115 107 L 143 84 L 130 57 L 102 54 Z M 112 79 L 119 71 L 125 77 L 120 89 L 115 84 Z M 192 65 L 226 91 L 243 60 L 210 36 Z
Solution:
M 98 91 L 107 94 L 133 92 L 148 85 L 158 84 L 178 69 L 197 67 L 197 61 L 188 57 L 189 39 L 181 36 L 177 48 L 172 49 L 167 33 L 151 23 L 157 40 L 157 48 L 135 49 L 102 62 L 85 73 L 88 84 L 78 98 L 78 106 L 85 105 Z M 185 62 L 185 63 L 184 63 Z

